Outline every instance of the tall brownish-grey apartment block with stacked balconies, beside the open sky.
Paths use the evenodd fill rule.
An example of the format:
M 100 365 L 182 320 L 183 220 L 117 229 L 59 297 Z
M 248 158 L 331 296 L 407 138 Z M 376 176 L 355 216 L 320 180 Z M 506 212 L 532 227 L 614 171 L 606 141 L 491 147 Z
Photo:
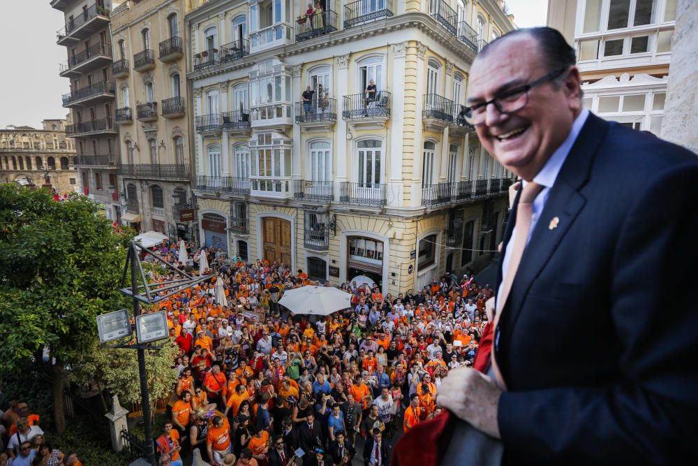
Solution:
M 63 106 L 73 112 L 66 136 L 75 139 L 75 166 L 80 192 L 105 209 L 107 218 L 119 220 L 117 186 L 119 144 L 114 122 L 114 79 L 109 29 L 109 0 L 51 0 L 64 13 L 65 24 L 57 43 L 66 47 L 67 61 L 59 73 L 70 80 Z

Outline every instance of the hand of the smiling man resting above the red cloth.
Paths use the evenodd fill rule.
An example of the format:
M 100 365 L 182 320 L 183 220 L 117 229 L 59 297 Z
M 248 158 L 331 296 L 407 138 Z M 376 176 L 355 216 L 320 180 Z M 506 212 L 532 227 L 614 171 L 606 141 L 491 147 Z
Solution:
M 495 381 L 487 375 L 469 367 L 459 367 L 443 379 L 436 402 L 477 430 L 498 439 L 497 405 L 501 394 Z

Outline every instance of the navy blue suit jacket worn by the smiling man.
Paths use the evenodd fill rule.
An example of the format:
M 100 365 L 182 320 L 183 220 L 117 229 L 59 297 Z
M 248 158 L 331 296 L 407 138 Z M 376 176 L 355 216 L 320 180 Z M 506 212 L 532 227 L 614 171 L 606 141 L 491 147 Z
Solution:
M 698 464 L 697 202 L 695 154 L 589 115 L 495 335 L 503 463 Z

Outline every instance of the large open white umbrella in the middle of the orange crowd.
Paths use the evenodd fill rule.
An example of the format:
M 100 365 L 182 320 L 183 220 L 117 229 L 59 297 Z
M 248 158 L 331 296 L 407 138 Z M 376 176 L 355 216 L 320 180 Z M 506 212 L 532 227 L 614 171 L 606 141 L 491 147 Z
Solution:
M 351 295 L 332 286 L 302 286 L 283 292 L 279 304 L 293 314 L 329 316 L 351 307 Z

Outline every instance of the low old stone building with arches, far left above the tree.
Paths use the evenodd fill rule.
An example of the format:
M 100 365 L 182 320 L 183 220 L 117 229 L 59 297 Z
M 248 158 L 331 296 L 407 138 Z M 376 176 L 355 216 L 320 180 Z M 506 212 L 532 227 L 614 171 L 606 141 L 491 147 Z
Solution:
M 61 194 L 77 191 L 75 147 L 66 138 L 69 120 L 45 119 L 41 129 L 12 125 L 0 129 L 0 182 L 55 188 Z

